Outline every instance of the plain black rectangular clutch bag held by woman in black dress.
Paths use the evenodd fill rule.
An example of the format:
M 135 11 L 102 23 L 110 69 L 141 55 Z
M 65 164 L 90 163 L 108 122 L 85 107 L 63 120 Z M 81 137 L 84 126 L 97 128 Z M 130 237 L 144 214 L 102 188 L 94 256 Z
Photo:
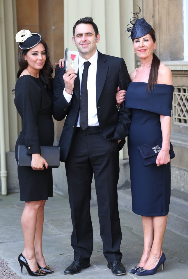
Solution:
M 55 145 L 41 145 L 41 156 L 51 168 L 59 167 L 59 147 Z M 27 154 L 26 145 L 18 144 L 18 166 L 31 166 L 32 154 Z

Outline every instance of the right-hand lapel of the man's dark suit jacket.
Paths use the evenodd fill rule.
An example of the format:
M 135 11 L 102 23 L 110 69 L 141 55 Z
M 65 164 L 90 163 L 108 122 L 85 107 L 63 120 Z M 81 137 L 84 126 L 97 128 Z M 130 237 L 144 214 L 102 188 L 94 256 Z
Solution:
M 97 77 L 96 77 L 96 101 L 98 102 L 99 97 L 101 95 L 102 89 L 104 87 L 104 83 L 107 77 L 108 65 L 104 62 L 107 61 L 105 55 L 98 51 L 97 58 Z

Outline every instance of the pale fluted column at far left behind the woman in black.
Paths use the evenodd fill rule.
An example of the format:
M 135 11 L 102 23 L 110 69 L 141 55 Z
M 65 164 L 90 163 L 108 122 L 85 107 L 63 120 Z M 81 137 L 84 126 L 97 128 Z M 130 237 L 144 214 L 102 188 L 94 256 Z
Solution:
M 3 108 L 6 151 L 15 149 L 17 139 L 17 112 L 12 89 L 16 82 L 15 68 L 15 1 L 1 1 L 1 59 L 3 65 Z

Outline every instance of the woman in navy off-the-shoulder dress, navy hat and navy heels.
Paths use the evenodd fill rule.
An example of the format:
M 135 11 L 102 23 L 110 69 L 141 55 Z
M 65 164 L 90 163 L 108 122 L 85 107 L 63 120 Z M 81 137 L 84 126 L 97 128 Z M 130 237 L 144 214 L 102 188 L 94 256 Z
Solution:
M 165 261 L 162 242 L 169 212 L 171 170 L 170 132 L 173 99 L 171 70 L 155 55 L 155 31 L 135 15 L 131 38 L 141 67 L 130 73 L 125 106 L 132 110 L 128 136 L 132 209 L 142 216 L 144 247 L 141 260 L 131 269 L 137 275 L 152 275 Z M 132 30 L 131 30 L 132 29 Z M 124 99 L 117 93 L 118 105 Z M 137 147 L 162 138 L 156 164 L 145 167 Z

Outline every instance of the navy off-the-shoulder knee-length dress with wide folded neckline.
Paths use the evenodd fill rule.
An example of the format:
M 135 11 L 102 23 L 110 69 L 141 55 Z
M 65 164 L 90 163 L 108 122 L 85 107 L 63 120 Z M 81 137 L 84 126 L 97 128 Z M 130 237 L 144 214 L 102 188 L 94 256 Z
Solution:
M 128 136 L 132 210 L 141 216 L 165 216 L 169 212 L 171 192 L 170 162 L 145 167 L 137 147 L 162 138 L 160 114 L 171 116 L 173 86 L 156 84 L 151 93 L 145 82 L 132 82 L 125 104 L 132 110 Z

